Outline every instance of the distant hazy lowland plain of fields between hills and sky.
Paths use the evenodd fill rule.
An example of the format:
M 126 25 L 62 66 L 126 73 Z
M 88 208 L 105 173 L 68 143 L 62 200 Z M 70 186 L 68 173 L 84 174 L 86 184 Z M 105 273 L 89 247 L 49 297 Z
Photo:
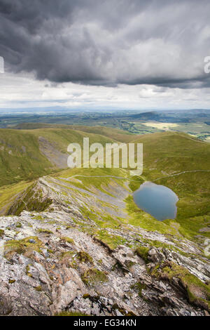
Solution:
M 37 122 L 41 121 L 41 122 Z M 55 124 L 56 122 L 56 124 Z M 161 131 L 180 131 L 197 136 L 200 139 L 208 139 L 210 115 L 204 110 L 200 111 L 158 111 L 158 112 L 85 112 L 85 113 L 61 113 L 43 114 L 41 117 L 35 114 L 20 114 L 4 117 L 1 115 L 0 127 L 18 128 L 25 130 L 43 128 L 62 128 L 97 133 L 108 136 L 120 142 L 129 142 L 132 134 L 148 134 Z M 84 126 L 85 124 L 85 126 Z

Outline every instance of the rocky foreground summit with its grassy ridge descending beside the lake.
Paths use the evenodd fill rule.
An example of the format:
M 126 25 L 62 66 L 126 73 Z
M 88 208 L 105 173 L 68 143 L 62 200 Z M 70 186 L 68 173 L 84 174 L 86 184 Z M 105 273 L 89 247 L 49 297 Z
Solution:
M 88 181 L 39 178 L 1 216 L 0 314 L 209 315 L 200 241 L 131 224 L 126 179 Z

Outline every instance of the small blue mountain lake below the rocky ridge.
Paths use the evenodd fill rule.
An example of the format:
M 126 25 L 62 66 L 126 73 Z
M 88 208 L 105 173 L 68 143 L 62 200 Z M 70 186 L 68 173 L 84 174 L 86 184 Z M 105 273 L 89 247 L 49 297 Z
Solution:
M 146 181 L 133 193 L 133 198 L 139 209 L 159 221 L 176 218 L 176 203 L 179 198 L 173 190 L 164 185 Z

